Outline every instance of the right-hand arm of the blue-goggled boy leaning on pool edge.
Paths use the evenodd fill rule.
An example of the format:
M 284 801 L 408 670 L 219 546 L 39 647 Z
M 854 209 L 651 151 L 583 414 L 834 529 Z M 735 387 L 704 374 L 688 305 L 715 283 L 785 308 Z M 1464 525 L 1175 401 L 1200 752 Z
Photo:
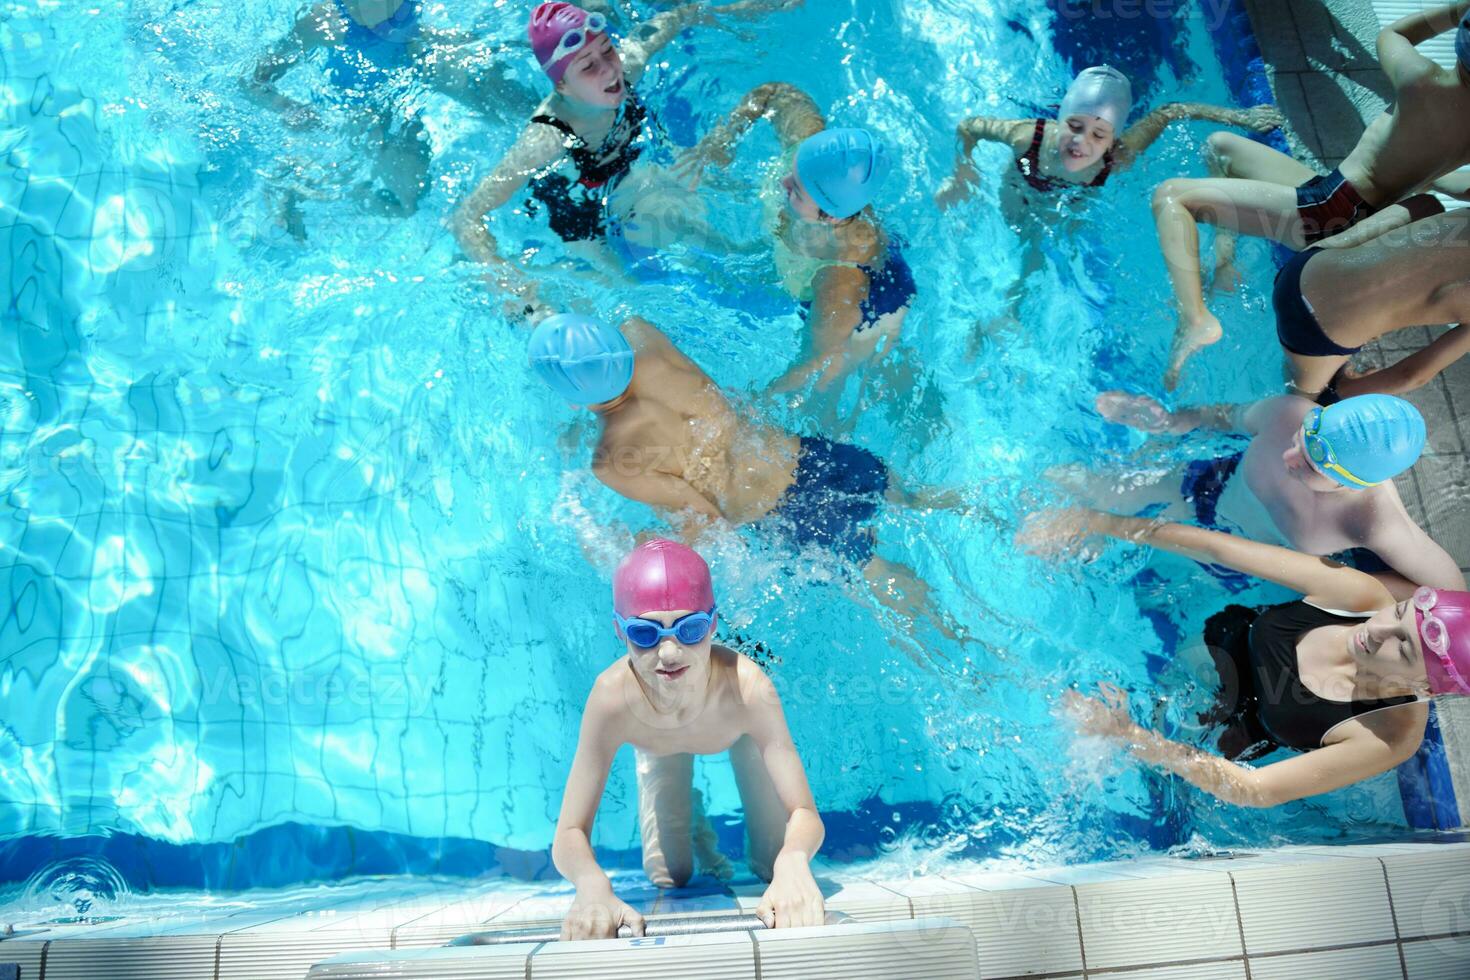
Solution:
M 811 858 L 822 848 L 826 829 L 817 815 L 807 770 L 786 727 L 776 686 L 754 664 L 744 666 L 750 667 L 748 674 L 741 677 L 741 695 L 750 708 L 750 736 L 781 805 L 786 808 L 786 836 L 756 914 L 772 929 L 820 926 L 825 907 L 822 889 L 811 877 Z

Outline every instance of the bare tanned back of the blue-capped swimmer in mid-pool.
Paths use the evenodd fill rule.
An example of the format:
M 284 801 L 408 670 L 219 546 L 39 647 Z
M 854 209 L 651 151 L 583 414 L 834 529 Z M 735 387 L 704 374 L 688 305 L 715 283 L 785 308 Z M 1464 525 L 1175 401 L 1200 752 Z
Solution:
M 622 331 L 637 367 L 626 397 L 601 413 L 598 478 L 654 507 L 678 508 L 657 492 L 685 485 L 736 525 L 769 513 L 795 478 L 800 441 L 741 417 L 647 320 Z

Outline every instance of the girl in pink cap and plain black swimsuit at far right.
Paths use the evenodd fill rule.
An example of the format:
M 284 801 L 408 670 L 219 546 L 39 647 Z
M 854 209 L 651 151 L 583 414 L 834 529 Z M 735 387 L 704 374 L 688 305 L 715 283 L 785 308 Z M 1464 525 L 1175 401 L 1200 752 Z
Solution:
M 1386 773 L 1419 751 L 1432 695 L 1470 695 L 1467 592 L 1424 586 L 1395 602 L 1373 576 L 1316 555 L 1091 510 L 1039 514 L 1019 544 L 1055 551 L 1086 535 L 1222 564 L 1301 595 L 1258 611 L 1235 607 L 1245 621 L 1223 630 L 1230 636 L 1217 663 L 1225 691 L 1239 696 L 1222 705 L 1222 755 L 1136 724 L 1111 685 L 1101 696 L 1063 698 L 1083 733 L 1114 739 L 1225 802 L 1277 807 Z M 1276 749 L 1301 755 L 1260 768 L 1236 761 Z

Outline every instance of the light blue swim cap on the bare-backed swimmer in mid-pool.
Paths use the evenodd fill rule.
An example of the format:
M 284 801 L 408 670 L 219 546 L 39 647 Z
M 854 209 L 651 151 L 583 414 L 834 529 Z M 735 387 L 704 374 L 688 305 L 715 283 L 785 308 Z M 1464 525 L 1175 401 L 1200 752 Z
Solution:
M 557 313 L 531 334 L 531 367 L 575 406 L 597 406 L 628 391 L 634 348 L 616 326 Z

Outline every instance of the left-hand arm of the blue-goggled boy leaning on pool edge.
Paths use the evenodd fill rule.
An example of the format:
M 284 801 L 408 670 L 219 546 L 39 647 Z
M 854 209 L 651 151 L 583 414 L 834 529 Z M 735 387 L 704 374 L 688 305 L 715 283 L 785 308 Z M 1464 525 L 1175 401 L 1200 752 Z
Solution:
M 576 887 L 572 909 L 562 921 L 562 939 L 616 939 L 617 927 L 628 926 L 641 936 L 644 920 L 631 905 L 613 895 L 607 879 L 592 854 L 592 820 L 607 786 L 607 771 L 622 745 L 616 718 L 619 695 L 616 682 L 606 674 L 592 685 L 582 711 L 582 729 L 576 739 L 576 757 L 562 793 L 562 813 L 551 842 L 551 862 L 562 877 Z

